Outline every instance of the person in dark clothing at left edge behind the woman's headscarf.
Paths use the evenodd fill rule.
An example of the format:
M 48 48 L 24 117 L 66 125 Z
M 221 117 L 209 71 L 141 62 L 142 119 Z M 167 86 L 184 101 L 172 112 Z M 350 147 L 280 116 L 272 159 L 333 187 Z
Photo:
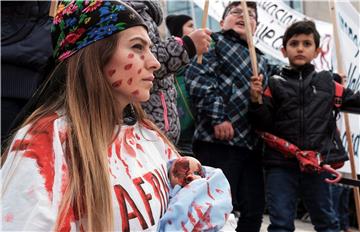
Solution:
M 53 68 L 50 1 L 1 3 L 1 141 Z M 39 43 L 41 41 L 41 43 Z

